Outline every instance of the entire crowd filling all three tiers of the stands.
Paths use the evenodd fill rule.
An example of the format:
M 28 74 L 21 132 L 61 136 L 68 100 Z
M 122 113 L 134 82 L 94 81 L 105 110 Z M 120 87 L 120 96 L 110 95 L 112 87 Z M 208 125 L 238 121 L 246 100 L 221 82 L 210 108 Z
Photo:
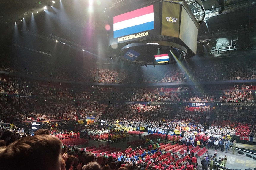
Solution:
M 16 63 L 15 69 L 9 66 L 3 66 L 2 70 L 36 77 L 47 77 L 61 80 L 71 81 L 88 81 L 102 83 L 168 83 L 168 82 L 184 82 L 184 81 L 208 81 L 222 80 L 219 78 L 219 70 L 228 69 L 228 66 L 223 67 L 224 63 L 218 64 L 201 64 L 200 67 L 195 65 L 189 66 L 187 70 L 191 74 L 187 75 L 187 70 L 181 71 L 179 67 L 164 68 L 161 72 L 144 72 L 139 70 L 136 76 L 132 70 L 118 68 L 97 68 L 91 67 L 79 70 L 78 67 L 73 67 L 72 64 L 64 70 L 64 63 L 58 66 L 49 64 L 48 61 L 43 61 L 42 66 L 39 63 L 25 60 L 28 68 L 23 68 L 22 64 Z M 21 62 L 22 63 L 22 62 Z M 30 65 L 33 63 L 33 65 Z M 48 66 L 44 66 L 47 65 Z M 244 66 L 244 68 L 240 68 Z M 36 67 L 39 67 L 37 70 Z M 45 68 L 46 67 L 46 68 Z M 236 72 L 235 79 L 253 79 L 254 69 L 251 64 L 239 63 L 239 70 Z M 32 70 L 35 69 L 33 72 Z M 232 68 L 233 69 L 233 68 Z M 249 69 L 250 71 L 246 70 Z M 47 70 L 43 72 L 43 70 Z M 233 70 L 232 70 L 233 71 Z M 42 74 L 40 73 L 42 72 Z M 246 74 L 240 74 L 245 72 Z M 75 74 L 74 74 L 75 73 Z M 143 73 L 143 74 L 140 74 Z M 211 119 L 213 108 L 203 106 L 198 108 L 188 108 L 185 106 L 181 109 L 173 109 L 163 105 L 147 106 L 143 104 L 115 104 L 110 102 L 102 104 L 99 101 L 143 101 L 143 102 L 215 102 L 219 98 L 220 102 L 231 103 L 254 103 L 252 85 L 236 85 L 232 90 L 225 90 L 222 94 L 217 94 L 216 91 L 207 91 L 207 88 L 202 87 L 187 87 L 177 86 L 175 88 L 135 88 L 135 87 L 103 87 L 83 85 L 47 85 L 43 82 L 20 77 L 1 75 L 1 94 L 17 94 L 38 96 L 39 98 L 18 98 L 4 96 L 0 98 L 1 107 L 1 122 L 16 122 L 16 121 L 33 121 L 33 120 L 78 120 L 86 119 L 88 112 L 97 112 L 95 122 L 99 119 L 108 119 L 114 124 L 118 118 L 121 124 L 131 126 L 144 127 L 159 127 L 168 129 L 179 129 L 181 124 L 182 129 L 195 130 L 203 129 L 211 133 L 236 134 L 241 136 L 255 136 L 254 110 L 246 110 L 235 108 L 234 111 L 220 111 L 216 113 L 216 118 L 212 125 L 205 129 L 205 122 Z M 233 74 L 233 73 L 231 73 Z M 141 75 L 139 77 L 138 75 Z M 227 76 L 227 74 L 223 74 Z M 231 76 L 230 79 L 233 79 Z M 50 84 L 50 81 L 48 82 Z M 203 90 L 200 90 L 203 89 Z M 211 88 L 209 88 L 211 89 Z M 231 89 L 231 88 L 230 88 Z M 69 102 L 48 101 L 40 98 L 56 97 L 69 99 L 85 99 L 71 100 Z M 87 100 L 94 100 L 89 102 Z M 99 103 L 98 103 L 99 102 Z M 244 114 L 249 112 L 249 114 Z M 136 117 L 136 120 L 134 120 Z M 113 119 L 115 118 L 115 119 Z M 211 120 L 212 121 L 212 120 Z M 239 124 L 234 124 L 238 121 Z M 218 128 L 216 128 L 216 126 Z

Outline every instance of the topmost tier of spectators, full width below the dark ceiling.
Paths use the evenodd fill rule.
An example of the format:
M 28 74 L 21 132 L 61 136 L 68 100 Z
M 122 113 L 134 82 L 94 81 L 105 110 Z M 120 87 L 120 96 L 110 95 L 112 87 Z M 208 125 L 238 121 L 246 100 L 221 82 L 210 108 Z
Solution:
M 10 59 L 11 60 L 11 59 Z M 34 58 L 17 58 L 13 61 L 1 64 L 1 70 L 27 74 L 36 77 L 50 79 L 87 81 L 100 83 L 168 83 L 185 81 L 209 81 L 209 80 L 249 80 L 256 79 L 255 68 L 250 62 L 223 61 L 207 63 L 184 64 L 184 69 L 177 65 L 163 67 L 160 71 L 144 71 L 133 67 L 123 69 L 121 66 L 88 65 L 77 61 L 55 61 L 43 58 L 37 61 Z M 232 64 L 231 64 L 232 63 Z M 200 65 L 199 65 L 200 64 Z M 26 67 L 24 67 L 26 65 Z M 236 67 L 233 67 L 236 65 Z M 136 72 L 136 74 L 134 74 Z

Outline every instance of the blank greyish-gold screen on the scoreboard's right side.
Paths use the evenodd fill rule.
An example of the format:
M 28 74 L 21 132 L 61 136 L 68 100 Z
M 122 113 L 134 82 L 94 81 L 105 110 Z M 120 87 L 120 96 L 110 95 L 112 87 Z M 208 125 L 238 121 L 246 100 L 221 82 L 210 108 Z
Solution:
M 189 28 L 189 29 L 188 29 Z M 180 39 L 183 41 L 192 51 L 196 54 L 197 48 L 197 35 L 198 28 L 195 23 L 189 17 L 189 14 L 182 7 L 181 11 L 181 27 L 180 27 Z

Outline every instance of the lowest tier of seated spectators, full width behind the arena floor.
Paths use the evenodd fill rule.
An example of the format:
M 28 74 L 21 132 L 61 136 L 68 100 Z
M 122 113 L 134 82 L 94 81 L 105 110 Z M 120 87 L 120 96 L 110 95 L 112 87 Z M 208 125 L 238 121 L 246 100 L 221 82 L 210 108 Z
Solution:
M 201 129 L 202 122 L 210 122 L 215 116 L 208 132 L 240 136 L 255 136 L 255 108 L 231 108 L 215 112 L 211 108 L 200 107 L 179 110 L 163 105 L 148 106 L 145 104 L 100 104 L 98 102 L 76 101 L 75 103 L 58 103 L 40 101 L 35 98 L 0 98 L 1 122 L 18 122 L 34 120 L 78 120 L 87 119 L 89 112 L 96 112 L 95 123 L 100 119 L 108 119 L 107 124 L 115 124 L 118 119 L 121 124 L 130 126 L 159 127 L 164 129 L 179 129 L 179 125 L 189 131 Z M 33 108 L 36 108 L 33 109 Z M 107 109 L 108 108 L 108 109 Z M 17 114 L 18 113 L 18 114 Z M 136 117 L 136 120 L 134 119 Z M 238 122 L 238 124 L 236 123 Z M 246 122 L 246 123 L 245 123 Z M 217 128 L 217 127 L 218 128 Z

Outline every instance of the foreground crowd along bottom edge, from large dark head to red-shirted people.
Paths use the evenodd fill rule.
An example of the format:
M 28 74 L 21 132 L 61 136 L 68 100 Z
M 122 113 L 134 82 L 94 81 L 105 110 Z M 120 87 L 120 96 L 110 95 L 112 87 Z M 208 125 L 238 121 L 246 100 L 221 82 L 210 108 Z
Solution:
M 129 146 L 125 150 L 102 154 L 63 145 L 50 134 L 45 129 L 22 137 L 8 129 L 0 133 L 1 169 L 193 170 L 198 166 L 193 149 L 186 148 L 181 154 L 164 152 L 159 149 L 158 140 L 153 142 L 149 138 L 142 147 L 132 149 Z M 10 141 L 9 136 L 16 136 L 16 139 Z

